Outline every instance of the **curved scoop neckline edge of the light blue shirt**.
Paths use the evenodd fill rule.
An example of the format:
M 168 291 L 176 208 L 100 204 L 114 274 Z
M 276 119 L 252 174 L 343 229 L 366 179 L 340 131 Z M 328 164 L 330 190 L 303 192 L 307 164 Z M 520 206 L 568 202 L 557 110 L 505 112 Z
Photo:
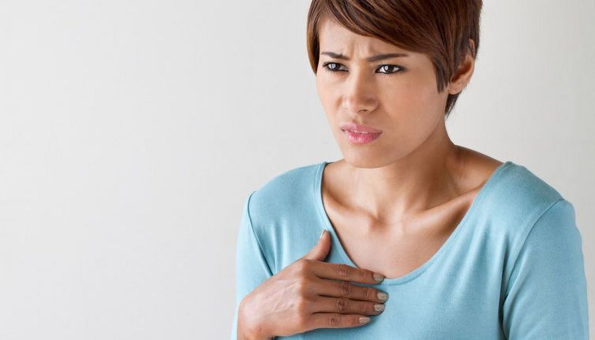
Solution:
M 334 229 L 333 224 L 330 222 L 330 219 L 328 218 L 328 214 L 324 208 L 324 202 L 322 201 L 322 174 L 324 174 L 324 167 L 330 163 L 334 163 L 334 162 L 322 161 L 321 163 L 318 164 L 317 171 L 315 172 L 314 196 L 315 196 L 316 205 L 318 207 L 318 213 L 320 214 L 320 217 L 322 218 L 322 220 L 324 220 L 324 226 L 323 226 L 324 229 L 327 230 L 328 232 L 330 232 L 331 235 L 333 236 L 333 238 L 336 239 L 337 252 L 339 252 L 339 255 L 342 258 L 342 260 L 349 266 L 359 268 L 355 263 L 353 263 L 353 261 L 351 260 L 349 255 L 347 255 L 345 248 L 343 248 L 343 244 L 339 240 L 336 230 Z M 409 273 L 399 276 L 399 277 L 391 277 L 391 278 L 385 277 L 382 282 L 375 283 L 374 285 L 377 285 L 377 286 L 378 285 L 401 285 L 403 283 L 406 283 L 406 282 L 409 282 L 409 281 L 415 279 L 416 277 L 421 275 L 423 272 L 425 272 L 425 270 L 427 270 L 428 267 L 430 267 L 431 264 L 433 264 L 455 242 L 456 237 L 464 229 L 469 217 L 472 216 L 472 214 L 474 213 L 475 210 L 477 210 L 478 205 L 481 204 L 482 199 L 484 198 L 484 196 L 486 196 L 486 194 L 489 191 L 489 189 L 491 188 L 491 186 L 493 186 L 498 175 L 500 173 L 502 173 L 502 170 L 504 170 L 506 167 L 508 167 L 511 164 L 512 164 L 512 161 L 506 161 L 505 163 L 500 164 L 500 166 L 498 166 L 496 168 L 496 170 L 494 170 L 493 173 L 491 173 L 490 177 L 488 177 L 488 179 L 486 180 L 484 185 L 481 187 L 480 191 L 477 193 L 477 195 L 475 195 L 475 198 L 471 202 L 471 206 L 466 211 L 466 213 L 463 216 L 463 218 L 461 219 L 461 221 L 457 224 L 457 226 L 455 227 L 455 230 L 453 230 L 453 232 L 450 233 L 450 235 L 446 239 L 446 241 L 440 246 L 440 248 L 434 253 L 434 255 L 432 255 L 432 257 L 430 257 L 429 260 L 425 261 L 424 264 L 417 267 L 412 272 L 409 272 Z

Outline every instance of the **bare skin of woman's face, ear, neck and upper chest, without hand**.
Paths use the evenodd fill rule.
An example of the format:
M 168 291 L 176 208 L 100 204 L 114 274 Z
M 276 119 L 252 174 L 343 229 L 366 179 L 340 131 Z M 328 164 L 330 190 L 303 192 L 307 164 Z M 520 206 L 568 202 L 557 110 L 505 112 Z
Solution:
M 439 93 L 425 54 L 357 35 L 332 20 L 321 22 L 319 39 L 317 91 L 344 157 L 324 169 L 325 210 L 356 266 L 389 278 L 406 275 L 441 247 L 502 164 L 453 144 L 446 131 L 447 96 L 465 88 L 474 60 L 468 54 Z M 395 52 L 409 56 L 366 60 Z M 328 62 L 335 71 L 325 70 Z M 368 144 L 352 144 L 340 129 L 349 121 L 382 133 Z

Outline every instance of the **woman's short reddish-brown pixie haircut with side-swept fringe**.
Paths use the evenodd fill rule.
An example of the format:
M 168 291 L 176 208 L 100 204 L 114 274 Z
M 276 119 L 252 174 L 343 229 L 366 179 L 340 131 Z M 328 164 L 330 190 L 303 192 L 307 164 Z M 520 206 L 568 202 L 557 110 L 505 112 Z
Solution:
M 468 51 L 474 60 L 477 57 L 481 6 L 482 0 L 312 0 L 306 33 L 310 65 L 316 74 L 320 55 L 318 25 L 328 18 L 358 35 L 428 55 L 440 93 Z M 460 93 L 449 94 L 446 118 Z

